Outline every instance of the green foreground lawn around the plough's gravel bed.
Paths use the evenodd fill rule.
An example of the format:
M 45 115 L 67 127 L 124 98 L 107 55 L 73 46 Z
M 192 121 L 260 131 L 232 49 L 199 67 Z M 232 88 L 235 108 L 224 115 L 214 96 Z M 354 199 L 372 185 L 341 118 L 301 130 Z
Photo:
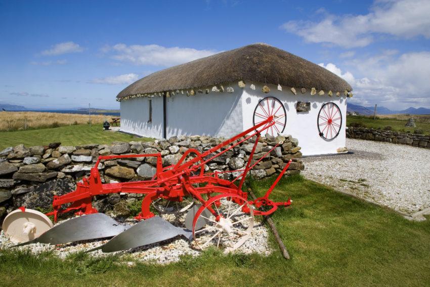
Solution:
M 272 181 L 250 181 L 263 194 Z M 425 286 L 430 283 L 430 220 L 410 222 L 373 204 L 339 194 L 300 176 L 282 179 L 271 198 L 292 208 L 273 215 L 291 259 L 275 251 L 222 255 L 208 250 L 166 266 L 93 259 L 66 260 L 0 251 L 2 285 L 15 286 Z

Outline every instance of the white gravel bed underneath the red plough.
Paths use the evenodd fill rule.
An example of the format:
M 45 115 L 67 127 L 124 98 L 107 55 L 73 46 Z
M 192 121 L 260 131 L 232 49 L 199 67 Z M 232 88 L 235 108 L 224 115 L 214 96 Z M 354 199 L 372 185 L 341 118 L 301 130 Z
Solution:
M 170 212 L 162 214 L 162 217 L 170 223 L 183 227 L 186 213 Z M 245 216 L 245 215 L 242 215 Z M 240 217 L 238 218 L 240 219 Z M 257 217 L 255 217 L 257 219 Z M 135 224 L 135 220 L 128 220 L 128 224 Z M 57 224 L 61 224 L 57 223 Z M 78 232 L 78 231 L 76 231 Z M 268 243 L 269 233 L 264 224 L 254 221 L 254 228 L 252 229 L 251 236 L 245 243 L 235 250 L 236 253 L 259 253 L 262 255 L 269 255 L 272 249 Z M 75 243 L 49 245 L 43 243 L 28 244 L 19 249 L 28 249 L 32 254 L 38 254 L 44 251 L 53 251 L 60 258 L 66 258 L 70 253 L 79 251 L 88 251 L 90 249 L 99 247 L 106 243 L 108 240 L 89 240 Z M 216 240 L 214 240 L 216 241 Z M 15 243 L 12 243 L 3 233 L 0 234 L 0 250 L 9 248 Z M 178 236 L 163 242 L 146 245 L 145 247 L 135 248 L 132 250 L 115 252 L 115 253 L 102 253 L 100 250 L 90 253 L 94 257 L 109 256 L 112 254 L 120 255 L 124 260 L 137 260 L 152 262 L 158 264 L 167 264 L 180 260 L 182 255 L 198 256 L 201 253 L 195 247 L 194 241 L 189 241 L 185 237 Z

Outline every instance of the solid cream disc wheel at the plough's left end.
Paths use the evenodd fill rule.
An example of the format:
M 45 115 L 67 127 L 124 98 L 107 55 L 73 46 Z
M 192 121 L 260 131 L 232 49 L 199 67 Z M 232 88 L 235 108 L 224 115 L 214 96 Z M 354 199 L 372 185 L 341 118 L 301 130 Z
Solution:
M 3 232 L 12 242 L 22 243 L 39 237 L 53 227 L 45 214 L 32 209 L 17 209 L 3 221 Z

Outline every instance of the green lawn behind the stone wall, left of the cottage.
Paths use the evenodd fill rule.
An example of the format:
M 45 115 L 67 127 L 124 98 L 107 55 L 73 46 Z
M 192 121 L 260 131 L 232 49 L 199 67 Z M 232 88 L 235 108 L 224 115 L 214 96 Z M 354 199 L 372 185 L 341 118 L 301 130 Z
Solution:
M 62 145 L 79 144 L 110 144 L 112 141 L 147 141 L 148 138 L 138 138 L 123 133 L 103 132 L 102 125 L 76 125 L 53 129 L 0 132 L 0 150 L 8 146 L 24 144 L 25 146 L 48 145 L 61 142 Z

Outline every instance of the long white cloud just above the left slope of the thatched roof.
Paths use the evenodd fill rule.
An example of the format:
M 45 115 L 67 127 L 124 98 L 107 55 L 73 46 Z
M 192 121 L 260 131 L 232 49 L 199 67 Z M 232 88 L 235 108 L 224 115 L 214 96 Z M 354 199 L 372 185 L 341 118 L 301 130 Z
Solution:
M 116 44 L 105 46 L 103 53 L 113 53 L 112 59 L 129 62 L 136 65 L 173 66 L 218 53 L 214 50 L 196 50 L 192 48 L 171 47 L 159 45 L 130 45 Z

